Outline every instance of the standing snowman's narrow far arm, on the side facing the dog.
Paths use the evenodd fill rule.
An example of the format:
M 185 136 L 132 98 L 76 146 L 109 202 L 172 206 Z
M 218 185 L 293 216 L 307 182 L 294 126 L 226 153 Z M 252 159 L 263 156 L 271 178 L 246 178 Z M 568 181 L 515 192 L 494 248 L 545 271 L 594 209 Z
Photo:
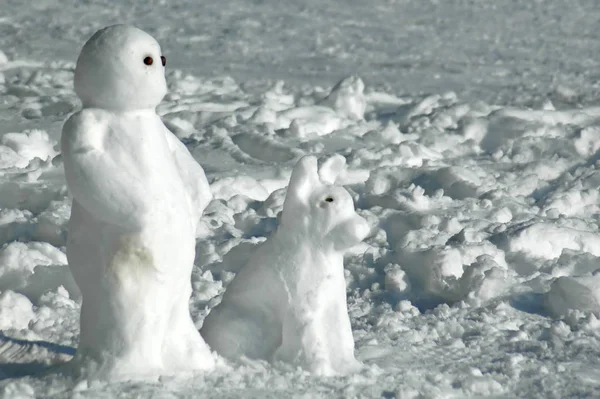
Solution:
M 202 215 L 202 212 L 212 200 L 210 185 L 204 174 L 204 169 L 196 162 L 186 146 L 166 127 L 165 135 L 179 174 L 196 204 L 198 215 Z

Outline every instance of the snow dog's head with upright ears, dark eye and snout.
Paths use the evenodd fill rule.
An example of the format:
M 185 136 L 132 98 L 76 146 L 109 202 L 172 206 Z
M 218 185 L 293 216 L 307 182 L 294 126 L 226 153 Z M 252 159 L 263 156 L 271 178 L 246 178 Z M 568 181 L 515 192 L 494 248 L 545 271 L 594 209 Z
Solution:
M 305 156 L 294 167 L 283 205 L 280 229 L 307 234 L 336 251 L 361 242 L 369 232 L 367 221 L 354 211 L 348 192 L 335 185 L 346 159 L 334 155 L 321 168 L 317 158 Z

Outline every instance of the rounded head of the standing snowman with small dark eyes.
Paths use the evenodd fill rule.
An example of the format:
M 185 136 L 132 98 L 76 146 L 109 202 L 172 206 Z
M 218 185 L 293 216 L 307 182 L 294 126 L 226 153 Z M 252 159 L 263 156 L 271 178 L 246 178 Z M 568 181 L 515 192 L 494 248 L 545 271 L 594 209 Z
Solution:
M 75 92 L 84 107 L 153 109 L 167 93 L 165 58 L 146 32 L 108 26 L 85 43 L 75 68 Z

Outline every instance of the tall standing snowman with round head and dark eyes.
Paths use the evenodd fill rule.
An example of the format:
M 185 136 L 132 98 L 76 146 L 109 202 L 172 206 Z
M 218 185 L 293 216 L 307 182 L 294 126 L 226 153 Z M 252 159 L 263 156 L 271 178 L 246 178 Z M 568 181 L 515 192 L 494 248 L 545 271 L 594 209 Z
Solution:
M 75 69 L 83 109 L 62 131 L 73 196 L 67 258 L 83 297 L 73 364 L 101 377 L 214 365 L 188 305 L 196 225 L 212 197 L 202 167 L 155 112 L 165 63 L 137 28 L 96 32 Z

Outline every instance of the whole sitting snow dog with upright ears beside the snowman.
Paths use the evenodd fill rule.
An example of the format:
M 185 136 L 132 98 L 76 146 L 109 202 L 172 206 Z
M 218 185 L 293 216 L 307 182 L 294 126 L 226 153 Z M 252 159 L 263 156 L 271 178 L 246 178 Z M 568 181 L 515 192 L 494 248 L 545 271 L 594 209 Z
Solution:
M 342 156 L 317 170 L 295 166 L 276 232 L 252 255 L 204 321 L 201 334 L 224 357 L 282 360 L 321 375 L 355 370 L 344 251 L 369 231 L 352 197 L 332 183 Z

